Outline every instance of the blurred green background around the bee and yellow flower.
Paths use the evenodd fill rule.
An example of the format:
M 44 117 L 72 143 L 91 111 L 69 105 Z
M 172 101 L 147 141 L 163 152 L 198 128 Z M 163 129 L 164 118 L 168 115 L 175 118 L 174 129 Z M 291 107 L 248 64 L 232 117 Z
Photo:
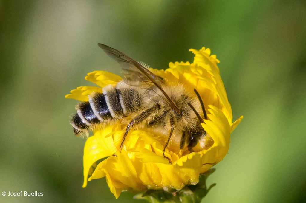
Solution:
M 94 70 L 120 68 L 97 46 L 165 69 L 209 47 L 244 115 L 203 202 L 306 201 L 305 1 L 0 1 L 0 202 L 144 202 L 105 179 L 83 183 L 85 139 L 69 125 Z

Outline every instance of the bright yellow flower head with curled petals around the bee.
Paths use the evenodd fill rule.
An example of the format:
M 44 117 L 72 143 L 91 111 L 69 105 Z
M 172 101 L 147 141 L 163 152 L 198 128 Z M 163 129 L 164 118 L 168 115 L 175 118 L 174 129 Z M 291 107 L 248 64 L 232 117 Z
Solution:
M 168 82 L 180 82 L 186 89 L 197 89 L 203 98 L 207 120 L 202 127 L 211 137 L 204 149 L 189 153 L 186 150 L 167 147 L 162 156 L 163 142 L 157 139 L 149 129 L 132 131 L 125 141 L 125 148 L 119 152 L 116 143 L 125 126 L 120 121 L 112 122 L 104 128 L 94 129 L 84 147 L 84 184 L 87 181 L 106 177 L 110 191 L 119 197 L 122 190 L 143 191 L 147 189 L 183 188 L 187 184 L 196 184 L 199 175 L 221 161 L 230 146 L 230 133 L 239 124 L 242 116 L 232 122 L 232 109 L 220 77 L 215 55 L 210 49 L 190 49 L 195 54 L 193 63 L 170 63 L 168 69 L 150 68 L 156 75 Z M 107 71 L 88 73 L 86 80 L 100 87 L 81 86 L 71 90 L 66 98 L 88 101 L 92 92 L 102 92 L 108 84 L 116 85 L 122 78 Z M 116 153 L 117 156 L 112 156 Z M 98 165 L 96 161 L 104 159 Z M 96 166 L 92 171 L 92 166 Z M 89 178 L 88 178 L 89 176 Z

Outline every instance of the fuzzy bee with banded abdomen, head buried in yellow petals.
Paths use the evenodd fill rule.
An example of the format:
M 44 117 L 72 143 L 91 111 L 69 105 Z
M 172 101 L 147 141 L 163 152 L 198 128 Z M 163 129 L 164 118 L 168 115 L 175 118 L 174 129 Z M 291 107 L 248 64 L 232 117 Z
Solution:
M 129 132 L 141 128 L 166 136 L 164 158 L 167 158 L 165 150 L 169 143 L 180 149 L 187 145 L 189 152 L 198 143 L 204 147 L 207 133 L 201 123 L 207 114 L 196 89 L 192 93 L 184 84 L 170 83 L 155 75 L 144 63 L 107 45 L 98 45 L 121 65 L 123 80 L 115 86 L 106 85 L 102 93 L 93 92 L 88 102 L 76 106 L 77 113 L 71 118 L 76 136 L 88 133 L 95 126 L 121 120 L 126 123 L 119 151 Z

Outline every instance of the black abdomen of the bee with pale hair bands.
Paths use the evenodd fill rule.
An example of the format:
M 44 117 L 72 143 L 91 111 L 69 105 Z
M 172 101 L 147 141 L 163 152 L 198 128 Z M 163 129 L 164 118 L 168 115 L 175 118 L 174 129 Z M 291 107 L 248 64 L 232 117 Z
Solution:
M 142 93 L 123 82 L 116 87 L 107 85 L 103 93 L 94 93 L 88 102 L 76 106 L 77 113 L 71 118 L 75 135 L 101 122 L 118 120 L 137 111 L 143 103 Z

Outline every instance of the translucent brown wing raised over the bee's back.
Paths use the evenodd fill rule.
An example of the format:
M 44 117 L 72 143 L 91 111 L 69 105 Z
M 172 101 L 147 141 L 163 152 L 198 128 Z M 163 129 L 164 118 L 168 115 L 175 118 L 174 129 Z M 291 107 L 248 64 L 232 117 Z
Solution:
M 176 111 L 179 112 L 178 107 L 173 103 L 170 97 L 166 94 L 166 92 L 162 89 L 159 85 L 162 82 L 162 79 L 159 78 L 157 75 L 153 74 L 147 68 L 145 68 L 140 63 L 136 62 L 135 60 L 131 59 L 129 56 L 126 56 L 124 53 L 118 51 L 117 49 L 111 48 L 107 45 L 98 43 L 99 47 L 103 49 L 103 51 L 117 61 L 122 69 L 126 71 L 128 74 L 125 74 L 128 80 L 139 80 L 146 84 L 152 83 L 152 85 L 156 86 L 162 92 L 163 96 L 165 97 L 166 101 L 170 104 L 170 106 Z

